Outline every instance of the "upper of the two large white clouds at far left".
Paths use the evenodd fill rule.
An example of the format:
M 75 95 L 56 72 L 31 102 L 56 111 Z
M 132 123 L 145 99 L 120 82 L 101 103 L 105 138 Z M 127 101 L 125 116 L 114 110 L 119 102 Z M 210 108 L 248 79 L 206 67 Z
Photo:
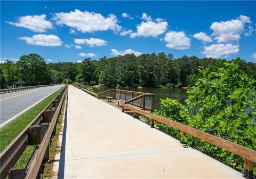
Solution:
M 18 18 L 18 22 L 7 22 L 10 25 L 17 27 L 25 27 L 35 32 L 45 32 L 47 29 L 52 29 L 52 23 L 45 20 L 46 15 L 26 15 Z

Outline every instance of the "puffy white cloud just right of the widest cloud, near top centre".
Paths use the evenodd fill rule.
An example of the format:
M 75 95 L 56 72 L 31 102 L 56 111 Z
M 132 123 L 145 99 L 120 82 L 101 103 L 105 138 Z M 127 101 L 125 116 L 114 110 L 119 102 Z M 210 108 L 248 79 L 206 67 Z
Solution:
M 167 29 L 167 22 L 141 22 L 139 26 L 137 26 L 137 32 L 131 33 L 130 37 L 135 38 L 137 36 L 145 36 L 145 37 L 157 37 L 160 34 L 163 34 Z

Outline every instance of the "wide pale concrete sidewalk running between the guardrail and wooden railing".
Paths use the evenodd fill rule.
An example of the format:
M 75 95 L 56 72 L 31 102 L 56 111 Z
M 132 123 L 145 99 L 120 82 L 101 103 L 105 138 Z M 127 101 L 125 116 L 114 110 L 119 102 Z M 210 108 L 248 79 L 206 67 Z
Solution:
M 58 178 L 243 178 L 70 85 L 60 142 Z

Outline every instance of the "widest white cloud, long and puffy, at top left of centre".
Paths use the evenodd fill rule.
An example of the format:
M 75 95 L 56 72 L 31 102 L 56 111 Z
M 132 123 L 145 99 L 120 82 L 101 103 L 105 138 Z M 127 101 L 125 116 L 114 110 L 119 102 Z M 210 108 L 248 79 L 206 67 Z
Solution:
M 102 30 L 120 31 L 116 15 L 109 14 L 107 18 L 100 13 L 89 11 L 70 11 L 69 13 L 55 13 L 53 20 L 57 25 L 66 25 L 81 32 L 94 32 Z

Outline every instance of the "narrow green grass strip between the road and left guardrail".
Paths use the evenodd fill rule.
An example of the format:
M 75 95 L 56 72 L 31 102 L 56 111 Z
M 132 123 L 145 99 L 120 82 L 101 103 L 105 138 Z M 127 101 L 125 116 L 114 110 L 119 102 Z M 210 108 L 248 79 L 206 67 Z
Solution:
M 63 88 L 64 87 L 46 97 L 46 99 L 36 104 L 33 108 L 29 109 L 17 119 L 11 121 L 7 126 L 0 129 L 0 152 L 2 152 L 15 139 L 15 137 L 17 137 L 23 129 L 28 126 L 28 124 L 58 95 Z M 33 148 L 33 146 L 29 146 L 28 148 Z

